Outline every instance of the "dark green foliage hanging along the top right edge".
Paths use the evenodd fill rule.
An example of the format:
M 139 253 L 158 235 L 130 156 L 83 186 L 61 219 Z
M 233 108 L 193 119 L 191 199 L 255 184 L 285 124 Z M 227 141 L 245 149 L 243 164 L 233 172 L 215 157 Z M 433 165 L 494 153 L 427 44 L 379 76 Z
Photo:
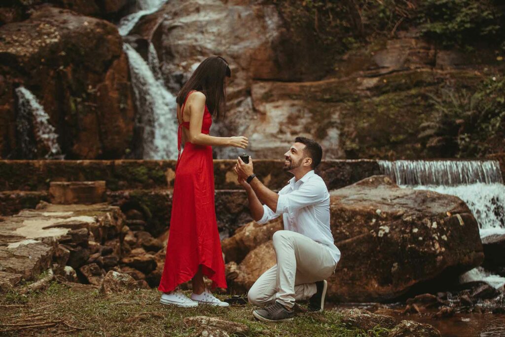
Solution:
M 479 42 L 505 47 L 497 0 L 271 0 L 288 25 L 310 32 L 327 50 L 344 53 L 412 27 L 442 46 Z

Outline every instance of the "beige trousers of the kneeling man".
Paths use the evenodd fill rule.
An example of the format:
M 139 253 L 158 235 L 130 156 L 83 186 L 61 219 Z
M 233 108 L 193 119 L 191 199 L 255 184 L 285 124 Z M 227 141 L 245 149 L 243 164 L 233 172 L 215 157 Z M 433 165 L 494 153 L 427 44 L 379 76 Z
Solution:
M 295 301 L 316 294 L 317 281 L 330 277 L 336 267 L 329 249 L 313 239 L 290 230 L 274 233 L 277 264 L 252 285 L 249 303 L 266 305 L 273 301 L 292 308 Z

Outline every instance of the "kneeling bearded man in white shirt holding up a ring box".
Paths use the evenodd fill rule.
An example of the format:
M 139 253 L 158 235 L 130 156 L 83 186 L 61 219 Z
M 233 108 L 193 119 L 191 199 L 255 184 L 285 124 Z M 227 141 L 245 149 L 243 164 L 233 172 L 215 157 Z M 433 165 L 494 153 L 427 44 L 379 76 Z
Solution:
M 256 177 L 250 157 L 248 164 L 239 157 L 235 165 L 255 221 L 264 224 L 281 214 L 284 221 L 284 230 L 273 235 L 277 264 L 261 275 L 247 294 L 250 303 L 268 305 L 253 312 L 259 320 L 291 320 L 295 301 L 307 298 L 310 311 L 324 309 L 325 279 L 335 272 L 340 251 L 330 231 L 328 188 L 314 173 L 322 156 L 316 141 L 297 137 L 284 154 L 284 170 L 294 177 L 278 193 Z

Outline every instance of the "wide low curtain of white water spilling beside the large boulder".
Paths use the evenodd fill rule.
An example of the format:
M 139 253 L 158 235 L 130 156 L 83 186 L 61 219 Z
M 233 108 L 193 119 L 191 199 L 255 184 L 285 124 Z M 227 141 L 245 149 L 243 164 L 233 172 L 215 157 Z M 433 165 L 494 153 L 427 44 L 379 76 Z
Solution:
M 472 211 L 481 238 L 505 234 L 505 185 L 497 161 L 379 161 L 383 174 L 400 187 L 426 189 L 457 196 Z M 483 268 L 461 276 L 462 282 L 483 280 L 496 288 L 505 278 Z

